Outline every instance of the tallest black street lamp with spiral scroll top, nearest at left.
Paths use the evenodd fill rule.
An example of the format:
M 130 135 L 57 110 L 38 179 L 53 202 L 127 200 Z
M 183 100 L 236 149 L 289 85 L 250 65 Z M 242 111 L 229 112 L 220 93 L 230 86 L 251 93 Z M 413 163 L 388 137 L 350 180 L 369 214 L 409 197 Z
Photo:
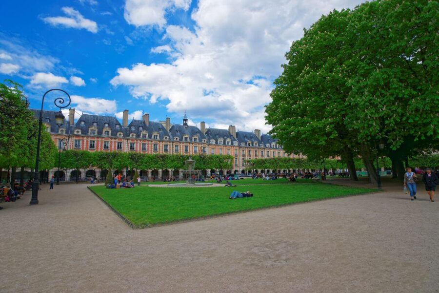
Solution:
M 43 109 L 43 105 L 44 105 L 44 98 L 51 91 L 61 91 L 61 92 L 65 93 L 67 95 L 67 97 L 68 97 L 67 105 L 62 105 L 62 104 L 64 104 L 64 102 L 67 102 L 67 101 L 64 101 L 64 99 L 60 98 L 60 97 L 56 98 L 55 101 L 54 101 L 55 106 L 60 108 L 60 112 L 57 115 L 55 115 L 55 120 L 56 120 L 57 124 L 60 123 L 60 125 L 61 125 L 63 120 L 64 120 L 64 115 L 62 115 L 61 109 L 65 108 L 65 107 L 68 107 L 70 105 L 71 101 L 72 101 L 70 99 L 70 95 L 65 90 L 58 89 L 58 88 L 49 89 L 48 91 L 46 91 L 44 93 L 44 95 L 42 97 L 41 111 L 40 111 L 40 121 L 38 123 L 37 159 L 35 161 L 34 182 L 32 184 L 32 198 L 31 198 L 31 201 L 29 202 L 30 205 L 38 205 L 38 189 L 40 188 L 40 182 L 38 180 L 39 179 L 39 174 L 38 174 L 39 169 L 38 169 L 38 166 L 40 164 L 40 141 L 41 141 L 41 126 L 42 126 L 42 111 L 43 111 L 42 109 Z

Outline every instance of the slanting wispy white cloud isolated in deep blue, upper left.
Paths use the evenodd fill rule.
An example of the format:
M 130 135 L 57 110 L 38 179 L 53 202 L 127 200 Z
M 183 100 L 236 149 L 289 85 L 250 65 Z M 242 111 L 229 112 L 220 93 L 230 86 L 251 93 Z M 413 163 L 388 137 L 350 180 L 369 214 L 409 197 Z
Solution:
M 95 21 L 84 18 L 78 10 L 72 7 L 62 7 L 61 10 L 67 15 L 57 17 L 45 17 L 43 21 L 53 26 L 65 26 L 78 29 L 86 29 L 89 32 L 97 33 L 98 24 Z

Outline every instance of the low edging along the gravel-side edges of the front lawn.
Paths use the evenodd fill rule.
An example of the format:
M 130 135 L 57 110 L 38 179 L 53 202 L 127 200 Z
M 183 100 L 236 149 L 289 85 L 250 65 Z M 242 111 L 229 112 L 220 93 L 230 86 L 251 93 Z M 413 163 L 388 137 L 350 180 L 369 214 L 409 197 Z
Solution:
M 344 186 L 344 187 L 346 187 L 346 186 Z M 220 218 L 220 217 L 224 217 L 224 216 L 235 215 L 235 214 L 240 214 L 240 213 L 244 213 L 244 212 L 259 211 L 259 210 L 263 210 L 263 209 L 284 208 L 284 207 L 293 206 L 293 205 L 300 205 L 300 204 L 306 204 L 306 203 L 311 203 L 311 202 L 319 202 L 319 201 L 323 201 L 323 200 L 330 200 L 330 199 L 336 199 L 336 198 L 344 198 L 344 197 L 349 197 L 349 196 L 372 194 L 372 193 L 378 193 L 378 192 L 382 191 L 382 190 L 374 190 L 374 191 L 369 191 L 369 192 L 362 192 L 362 193 L 356 193 L 356 194 L 346 194 L 346 195 L 340 195 L 340 196 L 334 196 L 334 197 L 328 197 L 328 198 L 322 198 L 322 199 L 316 199 L 316 200 L 303 201 L 303 202 L 299 202 L 299 203 L 287 203 L 287 204 L 281 204 L 281 205 L 276 205 L 276 206 L 261 207 L 261 208 L 256 208 L 256 209 L 227 211 L 227 212 L 214 214 L 214 215 L 205 215 L 205 216 L 200 216 L 200 217 L 195 217 L 195 218 L 178 219 L 178 220 L 172 220 L 172 221 L 168 221 L 168 222 L 159 222 L 159 223 L 155 223 L 155 224 L 135 225 L 130 220 L 125 218 L 119 211 L 117 211 L 112 206 L 110 206 L 110 204 L 107 203 L 102 197 L 100 197 L 100 195 L 98 193 L 93 191 L 90 187 L 87 187 L 87 188 L 91 192 L 93 192 L 108 208 L 110 208 L 114 213 L 116 213 L 131 229 L 134 229 L 134 230 L 168 226 L 168 225 L 187 223 L 187 222 L 194 222 L 194 221 L 200 221 L 200 220 L 205 220 L 205 219 Z M 370 188 L 370 189 L 372 189 L 372 188 Z

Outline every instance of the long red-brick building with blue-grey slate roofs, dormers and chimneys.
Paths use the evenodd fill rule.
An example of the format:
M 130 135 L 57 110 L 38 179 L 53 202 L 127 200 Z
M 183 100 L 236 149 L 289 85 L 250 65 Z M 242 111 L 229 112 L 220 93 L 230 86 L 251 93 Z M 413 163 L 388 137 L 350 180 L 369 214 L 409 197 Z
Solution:
M 38 118 L 40 110 L 32 111 Z M 233 168 L 224 170 L 227 173 L 242 173 L 246 159 L 296 157 L 295 154 L 288 155 L 271 135 L 261 135 L 259 129 L 247 132 L 237 131 L 236 126 L 229 126 L 228 129 L 206 128 L 204 122 L 198 128 L 188 125 L 186 114 L 182 124 L 171 124 L 170 118 L 160 122 L 150 121 L 149 114 L 144 114 L 141 120 L 133 119 L 128 123 L 128 110 L 123 111 L 122 123 L 116 117 L 89 114 L 80 115 L 75 122 L 75 109 L 70 108 L 68 121 L 64 119 L 63 124 L 58 126 L 56 113 L 43 111 L 43 124 L 58 147 L 61 147 L 60 139 L 68 139 L 66 149 L 231 155 L 234 157 Z M 152 170 L 148 171 L 148 175 L 152 174 Z M 172 176 L 160 173 L 154 176 Z

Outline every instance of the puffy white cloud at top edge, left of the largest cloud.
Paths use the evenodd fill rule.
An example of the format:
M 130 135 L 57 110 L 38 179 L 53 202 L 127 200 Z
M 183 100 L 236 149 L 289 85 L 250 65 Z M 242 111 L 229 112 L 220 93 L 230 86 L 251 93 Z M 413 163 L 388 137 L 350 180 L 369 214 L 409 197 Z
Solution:
M 123 17 L 135 26 L 166 24 L 166 11 L 172 9 L 188 10 L 191 0 L 126 0 Z

